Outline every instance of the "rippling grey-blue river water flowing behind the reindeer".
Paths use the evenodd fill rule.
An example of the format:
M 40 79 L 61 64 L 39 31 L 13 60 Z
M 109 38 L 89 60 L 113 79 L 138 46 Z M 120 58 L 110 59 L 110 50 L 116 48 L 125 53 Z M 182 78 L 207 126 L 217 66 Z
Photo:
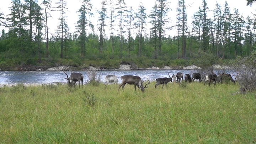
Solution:
M 88 71 L 73 71 L 84 75 L 84 83 L 89 80 Z M 116 75 L 117 77 L 123 75 L 140 76 L 143 80 L 155 81 L 156 78 L 169 77 L 178 72 L 190 74 L 196 70 L 100 70 L 97 74 L 100 75 L 100 81 L 105 82 L 106 75 Z M 66 71 L 70 76 L 71 71 Z M 98 77 L 98 76 L 97 76 Z M 52 84 L 56 82 L 67 82 L 66 74 L 63 71 L 0 71 L 0 85 L 14 85 L 14 84 Z M 118 83 L 121 80 L 118 79 Z

